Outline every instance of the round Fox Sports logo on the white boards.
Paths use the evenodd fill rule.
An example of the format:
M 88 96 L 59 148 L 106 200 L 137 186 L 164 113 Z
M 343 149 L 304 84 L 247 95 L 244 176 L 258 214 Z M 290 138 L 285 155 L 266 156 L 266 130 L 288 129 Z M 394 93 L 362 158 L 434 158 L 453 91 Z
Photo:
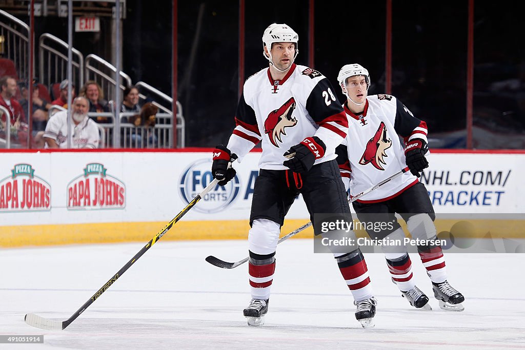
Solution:
M 195 198 L 213 181 L 212 160 L 203 159 L 192 163 L 182 172 L 179 181 L 179 194 L 186 203 Z M 204 214 L 217 213 L 228 207 L 239 194 L 240 184 L 237 175 L 224 186 L 216 185 L 209 190 L 193 208 Z

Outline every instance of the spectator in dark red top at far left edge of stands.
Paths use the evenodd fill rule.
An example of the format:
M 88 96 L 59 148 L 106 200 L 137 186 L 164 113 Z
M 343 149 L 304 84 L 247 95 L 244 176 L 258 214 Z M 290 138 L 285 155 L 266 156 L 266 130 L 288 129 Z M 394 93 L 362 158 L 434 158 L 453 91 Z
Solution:
M 23 146 L 27 146 L 26 116 L 22 106 L 15 99 L 16 89 L 16 80 L 14 78 L 7 76 L 0 79 L 0 105 L 9 111 L 10 132 L 12 136 L 15 136 L 15 141 L 18 141 Z M 4 131 L 2 137 L 5 137 L 5 115 L 2 115 L 0 119 L 0 126 Z

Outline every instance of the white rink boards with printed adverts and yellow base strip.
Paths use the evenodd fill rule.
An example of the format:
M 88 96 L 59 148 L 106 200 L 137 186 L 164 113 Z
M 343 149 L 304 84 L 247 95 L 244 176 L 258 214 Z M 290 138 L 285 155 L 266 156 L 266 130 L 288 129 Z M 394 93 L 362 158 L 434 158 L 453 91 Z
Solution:
M 245 239 L 259 156 L 235 164 L 236 178 L 209 192 L 163 239 Z M 525 152 L 433 151 L 429 162 L 421 181 L 438 232 L 459 216 L 469 237 L 525 238 Z M 208 149 L 2 153 L 0 246 L 148 241 L 212 181 L 210 169 Z M 298 199 L 282 234 L 308 221 Z

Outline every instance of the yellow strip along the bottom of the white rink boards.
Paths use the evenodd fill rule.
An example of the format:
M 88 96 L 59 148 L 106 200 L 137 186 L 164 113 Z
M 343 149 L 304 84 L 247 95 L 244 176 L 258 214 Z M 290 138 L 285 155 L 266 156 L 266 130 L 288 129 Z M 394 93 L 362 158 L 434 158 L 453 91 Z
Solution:
M 355 219 L 355 217 L 354 217 Z M 306 224 L 308 219 L 287 219 L 281 237 Z M 448 231 L 465 238 L 525 238 L 522 220 L 436 220 L 437 233 Z M 0 226 L 0 247 L 56 246 L 83 243 L 148 242 L 166 222 L 111 222 L 103 224 Z M 402 225 L 403 226 L 403 225 Z M 163 240 L 247 239 L 248 220 L 178 221 Z M 406 227 L 405 232 L 406 232 Z M 356 231 L 366 237 L 364 230 Z M 313 229 L 293 238 L 311 238 Z

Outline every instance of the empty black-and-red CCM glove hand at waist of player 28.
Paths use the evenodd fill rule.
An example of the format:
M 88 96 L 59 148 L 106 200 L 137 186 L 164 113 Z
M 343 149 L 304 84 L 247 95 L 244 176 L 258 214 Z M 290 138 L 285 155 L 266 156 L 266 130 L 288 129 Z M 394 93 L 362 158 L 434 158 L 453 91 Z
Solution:
M 306 173 L 313 163 L 324 156 L 327 146 L 317 136 L 307 137 L 298 145 L 290 147 L 288 151 L 283 154 L 289 160 L 282 164 L 289 167 L 292 172 Z

